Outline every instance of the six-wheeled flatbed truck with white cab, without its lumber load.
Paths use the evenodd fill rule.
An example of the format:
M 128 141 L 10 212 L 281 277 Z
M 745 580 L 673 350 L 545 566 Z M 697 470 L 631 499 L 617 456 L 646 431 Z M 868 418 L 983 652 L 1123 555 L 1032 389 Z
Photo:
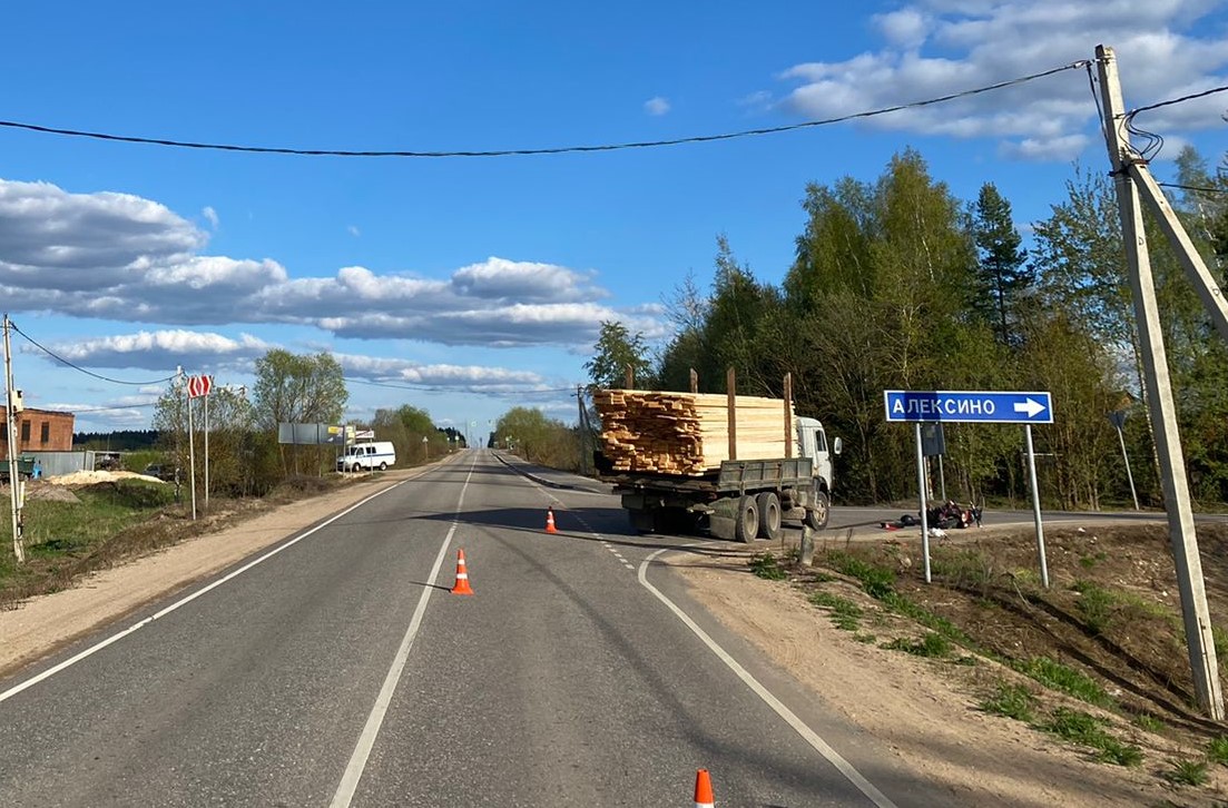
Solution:
M 733 432 L 738 416 L 732 406 L 729 420 Z M 598 452 L 597 476 L 613 484 L 637 533 L 707 530 L 718 539 L 749 543 L 777 538 L 786 521 L 822 530 L 830 511 L 833 456 L 840 453 L 841 441 L 829 446 L 817 419 L 790 414 L 788 422 L 792 446 L 780 441 L 782 457 L 734 457 L 700 473 L 670 473 L 615 469 Z M 737 454 L 736 446 L 731 449 Z

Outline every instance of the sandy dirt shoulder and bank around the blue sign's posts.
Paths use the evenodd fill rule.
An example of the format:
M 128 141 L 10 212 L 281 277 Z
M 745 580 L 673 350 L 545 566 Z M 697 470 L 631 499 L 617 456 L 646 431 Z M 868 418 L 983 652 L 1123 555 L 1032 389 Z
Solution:
M 1119 586 L 1143 581 L 1160 604 L 1175 600 L 1175 587 L 1163 573 L 1167 562 L 1172 575 L 1163 537 L 1146 530 L 1144 535 L 1135 535 L 1137 529 L 1115 529 L 1111 537 L 1102 532 L 1094 542 L 1086 533 L 1055 534 L 1051 600 L 1077 602 L 1082 596 L 1071 591 L 1072 585 L 1092 580 L 1093 571 Z M 1028 538 L 1027 530 L 1017 535 L 1002 530 L 982 534 L 977 540 L 989 546 L 982 554 L 976 553 L 975 544 L 943 546 L 936 550 L 936 569 L 954 580 L 960 573 L 955 565 L 959 560 L 969 567 L 963 570 L 965 575 L 982 573 L 981 582 L 1011 582 L 1024 570 L 1003 560 L 1005 548 L 1020 548 L 1019 557 L 1030 559 Z M 837 544 L 839 549 L 831 551 L 845 553 L 844 542 Z M 1207 550 L 1212 555 L 1216 550 L 1213 542 L 1208 544 L 1212 546 L 1203 550 L 1205 556 Z M 771 549 L 779 553 L 781 548 Z M 867 559 L 889 559 L 896 565 L 892 593 L 899 598 L 892 600 L 895 608 L 867 596 L 862 581 L 825 567 L 822 549 L 814 571 L 782 567 L 790 570 L 787 580 L 754 575 L 749 562 L 756 555 L 763 557 L 764 546 L 731 545 L 716 557 L 675 554 L 666 562 L 686 578 L 693 596 L 727 627 L 754 642 L 850 722 L 888 744 L 920 777 L 949 788 L 952 804 L 1223 804 L 1228 794 L 1224 766 L 1206 763 L 1200 786 L 1178 785 L 1172 779 L 1175 761 L 1203 760 L 1206 740 L 1217 734 L 1217 728 L 1180 699 L 1185 685 L 1179 678 L 1163 685 L 1136 684 L 1140 675 L 1156 673 L 1146 670 L 1156 659 L 1152 655 L 1168 656 L 1167 670 L 1180 672 L 1184 666 L 1189 679 L 1181 648 L 1160 643 L 1158 631 L 1138 625 L 1133 634 L 1142 636 L 1125 658 L 1144 670 L 1136 670 L 1131 679 L 1116 672 L 1111 653 L 1090 650 L 1108 642 L 1106 637 L 1081 630 L 1076 607 L 1070 607 L 1072 614 L 1065 615 L 1068 619 L 1060 609 L 1055 615 L 1040 605 L 1035 614 L 1023 607 L 1014 614 L 995 600 L 990 587 L 925 588 L 928 585 L 919 586 L 915 580 L 919 549 L 907 542 L 861 549 Z M 997 569 L 992 569 L 995 564 Z M 976 566 L 982 569 L 971 569 Z M 1217 573 L 1208 573 L 1213 592 Z M 949 636 L 966 637 L 976 650 L 952 643 L 949 651 L 926 656 L 921 652 L 922 640 L 937 632 L 921 625 L 916 614 L 909 615 L 910 608 L 899 608 L 901 603 L 916 604 L 921 621 L 939 625 L 937 632 L 946 626 Z M 1047 605 L 1047 600 L 1044 603 Z M 1160 615 L 1159 607 L 1151 614 Z M 837 627 L 841 615 L 842 627 Z M 1170 614 L 1160 616 L 1172 619 Z M 1103 635 L 1114 636 L 1105 620 Z M 1148 642 L 1151 653 L 1142 645 Z M 1116 647 L 1114 642 L 1108 645 Z M 1024 666 L 1003 664 L 1009 661 L 1005 650 L 1017 659 L 1052 659 L 1061 663 L 1061 670 L 1081 675 L 1090 672 L 1089 682 L 1100 680 L 1094 673 L 1104 670 L 1108 684 L 1098 691 L 1104 697 L 1092 705 L 1046 688 L 1020 673 Z M 1002 688 L 1032 694 L 1029 709 L 1034 715 L 1014 720 L 986 710 L 986 700 Z M 1151 721 L 1148 729 L 1131 721 L 1140 715 Z M 1115 749 L 1137 750 L 1137 760 L 1114 765 L 1098 750 L 1043 729 L 1046 723 L 1056 723 L 1054 716 L 1093 717 L 1119 744 Z

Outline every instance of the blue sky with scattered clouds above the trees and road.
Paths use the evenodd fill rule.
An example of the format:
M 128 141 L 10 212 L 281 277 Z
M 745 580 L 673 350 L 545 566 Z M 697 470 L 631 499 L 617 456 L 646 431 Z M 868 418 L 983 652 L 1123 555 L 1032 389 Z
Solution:
M 0 122 L 287 150 L 491 152 L 840 118 L 1117 56 L 1129 108 L 1228 85 L 1228 0 L 4 4 Z M 1214 167 L 1228 93 L 1141 113 Z M 779 284 L 807 183 L 915 149 L 1017 227 L 1108 171 L 1083 69 L 830 125 L 659 147 L 343 157 L 0 126 L 0 301 L 27 406 L 150 429 L 178 368 L 247 386 L 328 351 L 346 420 L 409 404 L 474 440 L 576 420 L 603 322 L 650 344 L 716 239 Z

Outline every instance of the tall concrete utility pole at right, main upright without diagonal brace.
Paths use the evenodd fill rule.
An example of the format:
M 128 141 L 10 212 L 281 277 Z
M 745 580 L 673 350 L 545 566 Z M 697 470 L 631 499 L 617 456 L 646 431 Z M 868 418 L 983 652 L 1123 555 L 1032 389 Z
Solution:
M 1109 160 L 1113 163 L 1113 177 L 1117 187 L 1121 236 L 1126 248 L 1126 263 L 1130 268 L 1130 286 L 1133 292 L 1135 319 L 1138 327 L 1143 378 L 1147 387 L 1147 406 L 1151 410 L 1156 451 L 1160 463 L 1160 481 L 1164 489 L 1164 506 L 1168 512 L 1169 540 L 1176 564 L 1176 583 L 1181 592 L 1181 614 L 1185 623 L 1190 668 L 1202 707 L 1213 720 L 1223 721 L 1223 691 L 1216 662 L 1216 646 L 1211 635 L 1211 615 L 1207 609 L 1207 592 L 1202 580 L 1202 561 L 1199 557 L 1194 511 L 1190 507 L 1190 488 L 1185 478 L 1181 436 L 1176 426 L 1176 406 L 1173 400 L 1159 307 L 1156 301 L 1156 284 L 1147 252 L 1147 236 L 1143 231 L 1143 214 L 1138 204 L 1138 181 L 1141 178 L 1149 179 L 1149 173 L 1141 155 L 1130 145 L 1125 103 L 1121 97 L 1117 63 L 1113 55 L 1113 48 L 1097 45 L 1095 58 L 1104 106 L 1104 134 L 1109 147 Z M 1146 181 L 1142 184 L 1151 190 Z M 1154 192 L 1158 193 L 1159 188 L 1154 187 Z M 1167 205 L 1157 205 L 1154 199 L 1152 204 L 1153 208 L 1167 208 Z M 1172 211 L 1169 210 L 1169 212 Z M 1162 215 L 1160 219 L 1165 217 Z M 1174 226 L 1180 228 L 1180 222 L 1175 217 L 1168 222 L 1168 227 Z M 1184 235 L 1184 231 L 1181 232 Z M 1187 239 L 1184 244 L 1173 244 L 1179 254 L 1187 246 Z M 1192 259 L 1186 255 L 1185 260 L 1189 269 Z M 1218 290 L 1216 291 L 1218 292 Z M 1214 295 L 1211 295 L 1210 291 L 1203 295 L 1203 301 L 1208 302 L 1208 309 L 1214 308 L 1210 305 L 1213 297 Z M 1218 297 L 1222 307 L 1223 295 Z M 1224 330 L 1228 319 L 1223 317 L 1223 312 L 1221 311 L 1221 316 L 1216 317 L 1216 312 L 1212 311 L 1212 317 L 1221 332 L 1228 336 L 1228 330 Z

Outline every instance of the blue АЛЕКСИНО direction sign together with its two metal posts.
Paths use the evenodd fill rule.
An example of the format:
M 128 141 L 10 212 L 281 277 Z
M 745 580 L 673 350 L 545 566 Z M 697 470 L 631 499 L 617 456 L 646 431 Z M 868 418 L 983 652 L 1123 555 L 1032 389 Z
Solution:
M 883 390 L 888 422 L 916 424 L 917 484 L 921 489 L 921 549 L 925 553 L 925 580 L 930 583 L 930 526 L 926 519 L 925 457 L 921 449 L 921 425 L 943 421 L 964 424 L 1023 424 L 1028 448 L 1028 479 L 1032 484 L 1032 513 L 1036 522 L 1036 555 L 1040 581 L 1049 588 L 1049 562 L 1045 559 L 1045 527 L 1040 519 L 1040 489 L 1036 485 L 1036 456 L 1032 447 L 1032 425 L 1052 424 L 1054 406 L 1049 393 L 1001 390 Z

